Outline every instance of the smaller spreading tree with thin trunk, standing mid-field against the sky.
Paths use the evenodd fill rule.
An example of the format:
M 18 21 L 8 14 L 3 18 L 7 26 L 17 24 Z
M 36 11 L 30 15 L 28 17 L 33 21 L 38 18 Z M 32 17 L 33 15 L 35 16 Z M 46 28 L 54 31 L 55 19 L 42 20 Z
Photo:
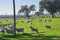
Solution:
M 18 11 L 18 13 L 25 13 L 25 16 L 29 20 L 29 13 L 31 11 L 35 11 L 35 5 L 31 5 L 30 7 L 28 7 L 27 5 L 21 6 L 21 9 Z

